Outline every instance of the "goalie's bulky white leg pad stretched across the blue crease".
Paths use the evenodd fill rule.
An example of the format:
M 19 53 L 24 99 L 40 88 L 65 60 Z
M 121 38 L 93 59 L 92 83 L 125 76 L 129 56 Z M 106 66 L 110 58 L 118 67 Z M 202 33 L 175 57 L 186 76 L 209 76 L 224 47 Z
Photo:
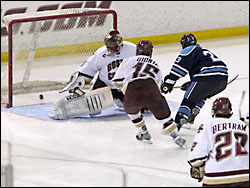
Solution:
M 95 114 L 114 105 L 109 87 L 87 92 L 84 95 L 69 95 L 54 103 L 49 116 L 56 120 Z

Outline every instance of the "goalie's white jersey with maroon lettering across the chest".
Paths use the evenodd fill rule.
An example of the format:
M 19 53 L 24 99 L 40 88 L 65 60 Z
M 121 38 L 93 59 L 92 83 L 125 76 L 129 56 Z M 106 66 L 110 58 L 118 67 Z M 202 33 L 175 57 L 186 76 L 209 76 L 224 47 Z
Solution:
M 102 80 L 111 89 L 114 89 L 112 78 L 120 66 L 123 59 L 136 55 L 136 45 L 123 41 L 123 46 L 119 54 L 107 55 L 106 46 L 99 48 L 86 62 L 77 69 L 86 80 L 92 80 L 99 72 L 99 79 Z

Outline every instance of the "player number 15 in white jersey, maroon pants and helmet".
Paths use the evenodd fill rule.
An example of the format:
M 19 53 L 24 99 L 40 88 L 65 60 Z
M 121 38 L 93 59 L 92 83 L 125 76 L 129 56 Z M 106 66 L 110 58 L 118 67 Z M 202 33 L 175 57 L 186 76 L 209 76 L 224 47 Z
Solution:
M 185 140 L 178 134 L 176 124 L 164 96 L 160 92 L 162 73 L 158 64 L 151 58 L 153 46 L 142 40 L 137 44 L 136 56 L 123 60 L 113 81 L 124 93 L 123 107 L 135 127 L 139 129 L 137 140 L 151 143 L 151 135 L 145 124 L 141 109 L 150 110 L 159 120 L 175 143 L 182 147 Z

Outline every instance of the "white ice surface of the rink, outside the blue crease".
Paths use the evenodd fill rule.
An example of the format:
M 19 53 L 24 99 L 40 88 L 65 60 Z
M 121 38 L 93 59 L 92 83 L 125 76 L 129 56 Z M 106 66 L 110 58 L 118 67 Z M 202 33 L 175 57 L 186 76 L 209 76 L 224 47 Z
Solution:
M 198 41 L 224 60 L 229 79 L 237 80 L 225 91 L 206 101 L 191 129 L 180 134 L 190 149 L 199 122 L 211 118 L 211 104 L 217 97 L 229 97 L 233 118 L 249 109 L 249 36 Z M 165 76 L 180 51 L 180 45 L 155 46 L 153 58 Z M 186 76 L 188 77 L 188 76 Z M 188 78 L 179 80 L 181 85 Z M 184 92 L 175 89 L 167 99 L 180 103 Z M 22 101 L 25 104 L 25 99 Z M 175 116 L 176 111 L 172 112 Z M 179 148 L 164 134 L 162 125 L 145 117 L 152 145 L 135 139 L 137 129 L 128 118 L 90 122 L 38 120 L 1 110 L 1 164 L 8 162 L 5 142 L 11 143 L 14 185 L 17 187 L 152 186 L 199 187 L 189 175 L 189 149 Z M 4 141 L 4 142 L 2 142 Z

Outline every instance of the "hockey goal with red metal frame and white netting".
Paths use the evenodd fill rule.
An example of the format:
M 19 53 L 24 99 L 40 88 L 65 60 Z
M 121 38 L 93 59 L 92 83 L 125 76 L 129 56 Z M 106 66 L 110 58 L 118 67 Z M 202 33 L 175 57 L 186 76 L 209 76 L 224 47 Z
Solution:
M 27 94 L 58 93 L 104 45 L 105 35 L 117 29 L 117 14 L 111 9 L 61 9 L 8 15 L 3 22 L 8 26 L 8 63 L 1 63 L 1 106 L 12 107 L 23 105 L 18 96 L 28 104 L 32 97 Z

